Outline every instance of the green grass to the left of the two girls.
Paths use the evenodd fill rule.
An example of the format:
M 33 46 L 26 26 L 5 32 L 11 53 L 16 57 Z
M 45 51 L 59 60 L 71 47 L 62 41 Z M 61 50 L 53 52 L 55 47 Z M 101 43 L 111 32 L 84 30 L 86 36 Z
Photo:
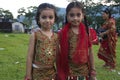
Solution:
M 0 33 L 0 80 L 23 80 L 29 35 Z

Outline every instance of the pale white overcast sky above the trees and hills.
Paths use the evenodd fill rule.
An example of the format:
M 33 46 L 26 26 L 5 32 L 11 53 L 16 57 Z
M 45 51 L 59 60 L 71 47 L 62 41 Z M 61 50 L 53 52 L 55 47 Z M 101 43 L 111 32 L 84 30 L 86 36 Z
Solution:
M 16 18 L 18 15 L 18 9 L 22 7 L 26 9 L 30 6 L 38 6 L 44 2 L 54 4 L 55 6 L 62 8 L 66 8 L 67 4 L 69 3 L 68 0 L 0 0 L 0 8 L 9 10 L 12 12 L 14 18 Z

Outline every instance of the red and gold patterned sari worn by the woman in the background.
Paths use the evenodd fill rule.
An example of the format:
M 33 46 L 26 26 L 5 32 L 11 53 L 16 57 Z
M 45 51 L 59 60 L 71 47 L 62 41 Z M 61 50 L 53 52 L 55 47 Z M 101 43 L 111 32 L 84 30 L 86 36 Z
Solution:
M 116 66 L 116 42 L 117 42 L 117 34 L 116 34 L 116 26 L 115 20 L 110 18 L 106 23 L 102 26 L 103 29 L 106 29 L 107 38 L 103 39 L 100 43 L 100 48 L 98 51 L 98 57 L 105 61 L 105 64 L 110 68 L 115 68 Z

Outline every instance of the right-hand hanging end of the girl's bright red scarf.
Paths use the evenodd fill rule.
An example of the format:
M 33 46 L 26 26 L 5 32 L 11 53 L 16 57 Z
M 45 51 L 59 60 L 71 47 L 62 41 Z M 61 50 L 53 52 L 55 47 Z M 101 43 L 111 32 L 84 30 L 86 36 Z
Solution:
M 85 26 L 80 23 L 77 47 L 73 55 L 73 62 L 84 64 L 88 62 L 88 35 Z

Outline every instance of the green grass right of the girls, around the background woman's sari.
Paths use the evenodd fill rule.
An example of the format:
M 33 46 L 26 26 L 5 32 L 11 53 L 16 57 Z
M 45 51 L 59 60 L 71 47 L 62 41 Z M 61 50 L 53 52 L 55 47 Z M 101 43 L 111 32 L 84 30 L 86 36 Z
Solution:
M 98 80 L 120 80 L 120 37 L 117 41 L 117 48 L 116 48 L 116 56 L 117 56 L 117 67 L 116 71 L 110 71 L 102 67 L 104 62 L 97 57 L 98 52 L 98 45 L 93 46 L 94 50 L 94 58 L 95 58 L 95 66 L 97 70 L 97 79 Z

